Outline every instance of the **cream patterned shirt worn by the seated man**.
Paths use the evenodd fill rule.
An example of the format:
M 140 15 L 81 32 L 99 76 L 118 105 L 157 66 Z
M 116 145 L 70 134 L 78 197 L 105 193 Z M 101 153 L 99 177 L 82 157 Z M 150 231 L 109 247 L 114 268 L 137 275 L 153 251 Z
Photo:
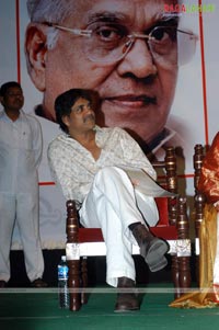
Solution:
M 94 175 L 105 167 L 143 169 L 153 179 L 157 173 L 139 145 L 122 128 L 96 129 L 96 145 L 102 149 L 97 160 L 77 140 L 66 134 L 56 137 L 48 147 L 48 162 L 55 181 L 67 200 L 82 202 Z

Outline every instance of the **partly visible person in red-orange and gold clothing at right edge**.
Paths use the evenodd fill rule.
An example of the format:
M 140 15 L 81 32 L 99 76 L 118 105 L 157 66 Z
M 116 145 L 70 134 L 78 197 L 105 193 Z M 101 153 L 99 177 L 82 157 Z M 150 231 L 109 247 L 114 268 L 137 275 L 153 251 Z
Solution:
M 171 307 L 219 306 L 219 133 L 203 161 L 198 192 L 206 201 L 199 229 L 199 291 L 184 294 Z

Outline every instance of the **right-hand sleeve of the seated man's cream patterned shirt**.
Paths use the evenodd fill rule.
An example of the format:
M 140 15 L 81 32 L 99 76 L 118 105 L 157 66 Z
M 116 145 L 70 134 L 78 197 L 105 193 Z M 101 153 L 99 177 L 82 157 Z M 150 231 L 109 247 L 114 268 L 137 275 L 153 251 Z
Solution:
M 138 143 L 124 129 L 120 129 L 120 144 L 124 150 L 124 157 L 129 161 L 131 167 L 146 171 L 152 179 L 157 179 L 157 172 L 152 164 L 141 150 Z

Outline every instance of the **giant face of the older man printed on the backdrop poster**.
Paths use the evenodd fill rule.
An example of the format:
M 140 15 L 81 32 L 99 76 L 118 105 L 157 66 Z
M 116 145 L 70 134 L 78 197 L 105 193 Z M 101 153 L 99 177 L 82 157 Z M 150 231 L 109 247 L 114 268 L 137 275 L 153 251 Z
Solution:
M 120 126 L 147 143 L 161 133 L 177 77 L 176 38 L 166 33 L 170 26 L 177 26 L 177 21 L 163 15 L 166 3 L 173 1 L 72 1 L 69 16 L 61 24 L 55 23 L 92 33 L 79 36 L 55 27 L 57 39 L 50 48 L 46 35 L 54 27 L 30 24 L 30 75 L 44 92 L 46 117 L 55 121 L 57 95 L 71 88 L 85 88 L 100 94 L 96 123 L 101 126 Z

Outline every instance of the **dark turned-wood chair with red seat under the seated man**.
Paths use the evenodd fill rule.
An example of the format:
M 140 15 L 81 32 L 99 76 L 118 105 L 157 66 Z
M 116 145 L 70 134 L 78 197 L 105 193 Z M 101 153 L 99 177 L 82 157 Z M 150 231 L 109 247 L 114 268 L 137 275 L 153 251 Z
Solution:
M 158 170 L 163 169 L 160 177 L 165 189 L 177 193 L 176 157 L 173 147 L 166 149 L 164 161 L 153 163 Z M 157 198 L 160 220 L 151 231 L 170 244 L 172 260 L 172 277 L 175 297 L 181 288 L 191 286 L 191 240 L 185 197 Z M 132 247 L 132 253 L 139 254 L 139 248 Z M 79 310 L 87 303 L 84 288 L 88 286 L 87 257 L 105 255 L 105 243 L 100 228 L 80 228 L 76 202 L 67 202 L 67 262 L 69 266 L 70 310 Z

